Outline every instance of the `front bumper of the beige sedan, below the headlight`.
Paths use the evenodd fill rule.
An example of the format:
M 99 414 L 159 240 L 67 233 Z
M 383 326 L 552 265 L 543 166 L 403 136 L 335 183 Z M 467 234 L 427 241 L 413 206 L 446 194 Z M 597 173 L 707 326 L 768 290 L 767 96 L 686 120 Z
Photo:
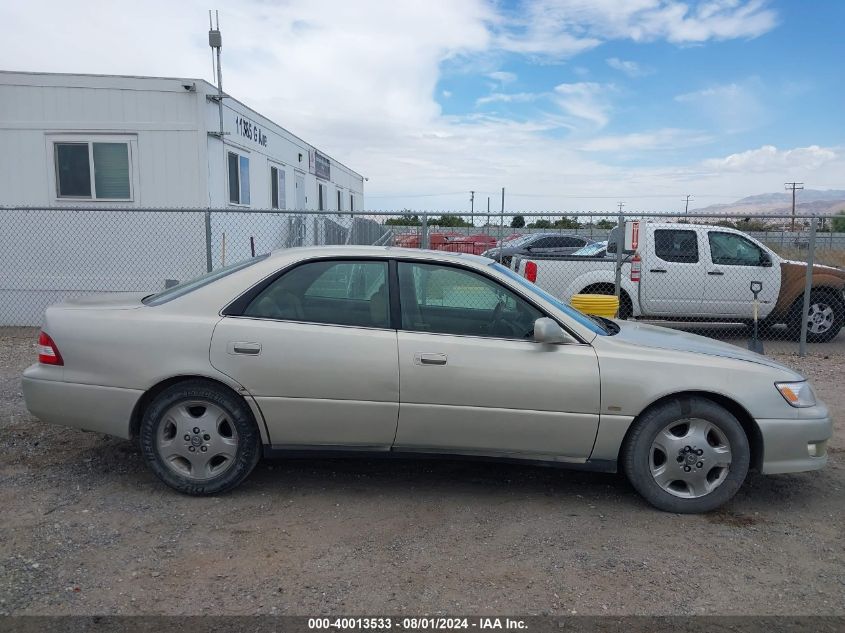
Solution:
M 833 434 L 829 417 L 757 420 L 763 436 L 765 475 L 819 470 L 827 464 L 827 442 Z

